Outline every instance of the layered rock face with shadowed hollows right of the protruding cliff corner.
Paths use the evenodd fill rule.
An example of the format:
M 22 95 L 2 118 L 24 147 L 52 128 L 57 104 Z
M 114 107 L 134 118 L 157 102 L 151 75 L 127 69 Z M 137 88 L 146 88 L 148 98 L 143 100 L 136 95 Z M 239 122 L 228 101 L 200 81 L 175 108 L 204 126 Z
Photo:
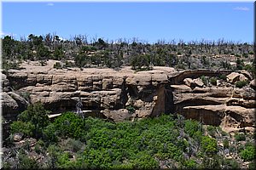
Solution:
M 175 112 L 215 126 L 255 126 L 256 102 L 253 88 L 212 86 L 192 89 L 186 86 L 185 83 L 171 85 Z

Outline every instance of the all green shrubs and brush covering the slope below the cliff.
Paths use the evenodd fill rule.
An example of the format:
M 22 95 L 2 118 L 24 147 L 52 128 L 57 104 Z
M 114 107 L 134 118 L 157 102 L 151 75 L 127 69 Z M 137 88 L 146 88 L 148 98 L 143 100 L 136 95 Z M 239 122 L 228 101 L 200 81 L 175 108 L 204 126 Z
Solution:
M 47 112 L 40 104 L 31 105 L 11 124 L 4 167 L 234 169 L 244 161 L 254 166 L 255 144 L 249 133 L 230 138 L 219 127 L 180 115 L 113 123 L 65 112 L 50 122 Z M 23 135 L 23 142 L 13 140 L 16 134 Z

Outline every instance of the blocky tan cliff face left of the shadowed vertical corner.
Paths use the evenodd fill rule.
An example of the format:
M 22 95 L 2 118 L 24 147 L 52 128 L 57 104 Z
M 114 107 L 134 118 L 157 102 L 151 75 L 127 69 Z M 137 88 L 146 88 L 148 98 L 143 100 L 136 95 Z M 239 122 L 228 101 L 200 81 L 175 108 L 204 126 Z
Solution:
M 53 113 L 75 111 L 79 99 L 82 101 L 83 111 L 90 111 L 91 115 L 115 122 L 132 120 L 132 117 L 157 116 L 171 110 L 168 99 L 172 100 L 172 95 L 168 96 L 172 93 L 167 92 L 166 72 L 173 71 L 172 68 L 137 73 L 111 69 L 84 70 L 11 70 L 6 80 L 9 80 L 10 86 L 15 87 L 17 94 L 29 94 L 32 104 L 41 102 Z M 6 94 L 6 105 L 10 105 L 9 108 L 13 110 L 4 110 L 4 115 L 17 109 L 19 105 L 26 106 L 24 102 L 18 105 L 13 98 L 17 100 L 19 97 L 12 94 L 10 98 Z M 136 111 L 126 110 L 127 106 Z M 24 111 L 26 108 L 22 109 Z M 87 113 L 89 116 L 89 112 Z

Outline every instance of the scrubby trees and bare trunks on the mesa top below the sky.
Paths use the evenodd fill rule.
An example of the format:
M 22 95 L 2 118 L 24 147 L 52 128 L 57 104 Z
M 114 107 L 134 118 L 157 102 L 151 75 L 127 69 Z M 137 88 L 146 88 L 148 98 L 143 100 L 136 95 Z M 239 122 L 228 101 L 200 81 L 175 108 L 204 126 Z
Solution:
M 20 40 L 9 36 L 2 39 L 4 69 L 17 69 L 24 60 L 38 60 L 45 65 L 48 59 L 56 59 L 61 64 L 55 65 L 57 69 L 61 66 L 118 69 L 130 65 L 134 70 L 143 71 L 159 65 L 177 69 L 245 69 L 255 74 L 253 44 L 224 39 L 148 43 L 136 38 L 120 38 L 114 42 L 96 37 L 89 41 L 82 35 L 63 40 L 55 34 L 31 34 Z M 67 60 L 74 63 L 68 64 Z

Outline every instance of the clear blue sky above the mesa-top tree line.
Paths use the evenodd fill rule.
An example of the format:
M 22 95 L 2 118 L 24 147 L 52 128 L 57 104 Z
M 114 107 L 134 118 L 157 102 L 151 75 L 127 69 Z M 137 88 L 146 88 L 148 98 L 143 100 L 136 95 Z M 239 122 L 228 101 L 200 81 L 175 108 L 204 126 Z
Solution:
M 253 42 L 252 3 L 2 3 L 2 35 Z

